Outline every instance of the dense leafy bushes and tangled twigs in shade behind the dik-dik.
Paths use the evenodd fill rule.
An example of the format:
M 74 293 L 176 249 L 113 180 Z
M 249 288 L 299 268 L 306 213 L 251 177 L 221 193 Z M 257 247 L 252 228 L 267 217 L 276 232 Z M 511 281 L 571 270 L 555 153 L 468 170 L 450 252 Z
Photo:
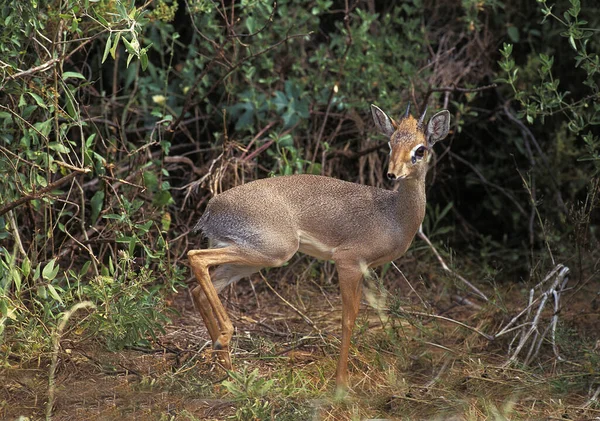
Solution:
M 600 288 L 593 1 L 24 0 L 0 13 L 4 359 L 49 352 L 84 300 L 97 309 L 78 326 L 110 349 L 160 332 L 214 193 L 303 172 L 393 188 L 371 103 L 450 110 L 424 229 L 455 268 L 494 291 L 564 263 L 573 290 Z

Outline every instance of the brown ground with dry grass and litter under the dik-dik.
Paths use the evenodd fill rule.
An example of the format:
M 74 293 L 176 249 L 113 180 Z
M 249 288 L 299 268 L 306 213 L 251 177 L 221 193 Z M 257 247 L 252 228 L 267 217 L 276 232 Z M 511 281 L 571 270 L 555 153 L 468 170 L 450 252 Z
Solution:
M 296 269 L 300 266 L 296 265 Z M 274 275 L 275 272 L 267 273 L 269 279 Z M 308 279 L 307 275 L 303 279 Z M 258 391 L 256 383 L 251 382 L 244 392 L 246 395 L 236 395 L 222 383 L 226 373 L 212 364 L 202 321 L 187 291 L 182 291 L 174 297 L 180 316 L 161 337 L 156 352 L 111 353 L 90 341 L 63 339 L 54 419 L 224 420 L 237 416 L 337 421 L 600 417 L 600 405 L 588 402 L 598 387 L 593 380 L 597 366 L 593 364 L 600 357 L 584 334 L 574 336 L 563 329 L 559 345 L 570 362 L 557 362 L 549 346 L 529 367 L 507 366 L 506 341 L 490 342 L 458 324 L 411 316 L 401 310 L 443 314 L 493 333 L 501 321 L 506 322 L 522 308 L 516 304 L 522 292 L 503 292 L 505 301 L 515 303 L 515 308 L 504 314 L 495 305 L 476 308 L 452 303 L 447 298 L 451 295 L 448 283 L 428 289 L 417 282 L 413 284 L 414 291 L 406 284 L 398 286 L 402 281 L 396 279 L 397 275 L 387 275 L 394 281 L 390 285 L 396 288 L 387 300 L 381 298 L 382 293 L 376 288 L 373 294 L 366 294 L 375 298 L 364 300 L 357 321 L 351 348 L 352 391 L 344 398 L 334 395 L 341 304 L 337 286 L 327 280 L 318 284 L 298 281 L 274 285 L 292 308 L 260 278 L 255 278 L 255 291 L 247 281 L 242 281 L 227 298 L 237 327 L 233 344 L 237 372 L 248 378 L 252 371 L 258 370 L 262 381 L 274 380 L 265 391 Z M 403 298 L 400 301 L 389 297 Z M 579 308 L 569 313 L 568 310 L 565 308 L 562 314 L 564 326 L 576 322 L 584 311 Z M 27 367 L 15 364 L 2 370 L 0 418 L 43 416 L 48 362 Z M 266 407 L 261 416 L 248 415 L 256 414 L 261 404 Z

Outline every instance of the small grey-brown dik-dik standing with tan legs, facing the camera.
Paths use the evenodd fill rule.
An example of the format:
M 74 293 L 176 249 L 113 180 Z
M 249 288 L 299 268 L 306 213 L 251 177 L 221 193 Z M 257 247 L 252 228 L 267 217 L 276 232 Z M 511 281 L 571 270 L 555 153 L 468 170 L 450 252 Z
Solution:
M 317 175 L 273 177 L 213 197 L 196 224 L 212 248 L 188 252 L 199 283 L 192 296 L 225 368 L 231 368 L 233 325 L 219 292 L 261 268 L 281 266 L 301 251 L 336 264 L 342 295 L 336 386 L 347 388 L 363 271 L 397 259 L 410 246 L 425 216 L 428 156 L 450 126 L 447 110 L 427 125 L 425 113 L 416 120 L 410 106 L 399 121 L 375 105 L 371 112 L 377 128 L 389 137 L 387 176 L 399 184 L 397 191 Z

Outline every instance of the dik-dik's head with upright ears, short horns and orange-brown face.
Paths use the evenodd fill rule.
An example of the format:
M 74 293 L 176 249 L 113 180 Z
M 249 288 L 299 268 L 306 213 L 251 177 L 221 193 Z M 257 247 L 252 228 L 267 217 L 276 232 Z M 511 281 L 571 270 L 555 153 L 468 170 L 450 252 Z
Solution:
M 371 105 L 375 125 L 390 138 L 390 164 L 387 176 L 390 180 L 419 178 L 427 172 L 428 155 L 431 148 L 448 134 L 450 113 L 443 110 L 431 117 L 425 126 L 425 114 L 419 118 L 410 115 L 410 104 L 406 113 L 396 122 L 376 105 Z

